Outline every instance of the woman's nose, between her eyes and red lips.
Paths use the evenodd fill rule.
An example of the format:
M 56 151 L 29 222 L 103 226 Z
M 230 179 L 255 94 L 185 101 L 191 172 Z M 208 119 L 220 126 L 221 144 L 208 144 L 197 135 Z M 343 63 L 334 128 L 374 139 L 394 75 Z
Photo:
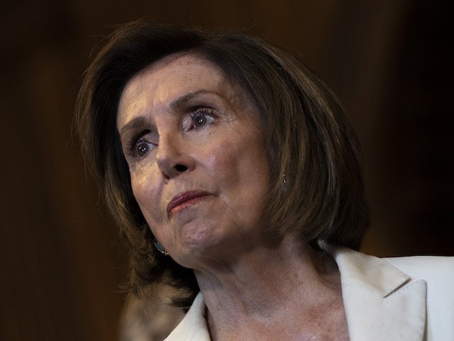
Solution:
M 194 159 L 187 153 L 187 146 L 177 136 L 160 136 L 156 162 L 165 180 L 175 178 L 194 169 Z

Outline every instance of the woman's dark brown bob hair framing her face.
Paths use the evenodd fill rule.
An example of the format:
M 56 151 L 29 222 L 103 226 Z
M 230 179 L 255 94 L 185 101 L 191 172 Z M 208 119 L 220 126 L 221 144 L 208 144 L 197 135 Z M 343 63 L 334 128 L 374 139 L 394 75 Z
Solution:
M 325 239 L 358 249 L 369 224 L 360 147 L 323 82 L 292 55 L 260 38 L 140 20 L 118 27 L 106 39 L 86 72 L 74 120 L 87 168 L 99 181 L 130 250 L 128 289 L 140 294 L 165 283 L 178 289 L 173 303 L 182 307 L 199 291 L 191 269 L 153 247 L 116 128 L 126 83 L 174 53 L 211 61 L 258 108 L 273 181 L 268 221 L 275 232 L 298 235 L 312 245 Z

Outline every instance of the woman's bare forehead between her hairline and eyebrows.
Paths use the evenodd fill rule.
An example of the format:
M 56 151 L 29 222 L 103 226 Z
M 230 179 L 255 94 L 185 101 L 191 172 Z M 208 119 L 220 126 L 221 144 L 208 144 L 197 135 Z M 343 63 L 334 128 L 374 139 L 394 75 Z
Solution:
M 118 105 L 117 126 L 131 114 L 147 114 L 152 108 L 166 109 L 170 103 L 192 92 L 214 92 L 235 104 L 243 98 L 238 87 L 223 71 L 200 55 L 169 55 L 131 78 L 123 89 Z

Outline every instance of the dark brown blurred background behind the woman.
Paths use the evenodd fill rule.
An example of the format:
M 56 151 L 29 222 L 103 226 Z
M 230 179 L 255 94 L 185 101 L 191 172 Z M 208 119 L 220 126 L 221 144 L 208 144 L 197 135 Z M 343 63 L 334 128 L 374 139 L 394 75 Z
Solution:
M 238 28 L 299 56 L 362 143 L 362 251 L 454 255 L 452 1 L 18 0 L 0 16 L 0 340 L 118 339 L 126 255 L 71 121 L 92 49 L 143 16 Z

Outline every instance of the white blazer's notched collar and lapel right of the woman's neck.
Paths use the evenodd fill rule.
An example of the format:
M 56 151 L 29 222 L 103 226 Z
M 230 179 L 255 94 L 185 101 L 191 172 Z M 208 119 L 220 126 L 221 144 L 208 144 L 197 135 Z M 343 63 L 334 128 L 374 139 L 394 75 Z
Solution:
M 426 282 L 374 256 L 324 242 L 341 271 L 351 341 L 421 341 L 426 328 Z

